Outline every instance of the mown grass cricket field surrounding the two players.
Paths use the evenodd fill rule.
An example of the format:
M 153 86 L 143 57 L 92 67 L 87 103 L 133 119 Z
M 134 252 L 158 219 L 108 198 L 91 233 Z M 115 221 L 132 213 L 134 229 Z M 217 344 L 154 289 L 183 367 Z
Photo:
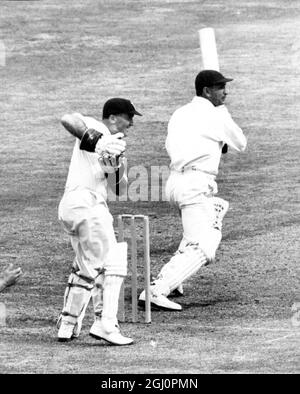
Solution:
M 299 1 L 1 1 L 0 9 L 0 267 L 24 271 L 0 297 L 8 311 L 0 373 L 299 373 L 291 310 L 300 301 Z M 217 261 L 186 284 L 181 313 L 122 325 L 135 345 L 90 338 L 91 308 L 81 337 L 59 344 L 73 258 L 57 221 L 73 147 L 60 118 L 97 117 L 107 98 L 129 97 L 144 114 L 128 137 L 129 165 L 168 165 L 167 121 L 194 95 L 197 31 L 206 26 L 234 78 L 228 107 L 248 137 L 244 154 L 222 158 L 219 195 L 231 208 Z M 149 215 L 155 275 L 180 241 L 177 212 L 164 201 L 110 207 Z

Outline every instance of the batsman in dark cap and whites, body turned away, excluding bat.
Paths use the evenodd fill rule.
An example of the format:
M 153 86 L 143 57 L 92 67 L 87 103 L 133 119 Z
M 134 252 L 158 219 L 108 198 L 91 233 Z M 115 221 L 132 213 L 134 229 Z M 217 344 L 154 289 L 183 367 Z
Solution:
M 214 260 L 222 238 L 222 219 L 229 204 L 215 196 L 221 154 L 227 146 L 244 151 L 247 144 L 224 105 L 230 81 L 218 71 L 200 71 L 195 79 L 196 96 L 177 109 L 168 124 L 171 171 L 166 196 L 180 210 L 183 238 L 151 284 L 151 304 L 159 309 L 182 309 L 167 297 Z M 145 291 L 139 297 L 139 303 L 144 302 Z

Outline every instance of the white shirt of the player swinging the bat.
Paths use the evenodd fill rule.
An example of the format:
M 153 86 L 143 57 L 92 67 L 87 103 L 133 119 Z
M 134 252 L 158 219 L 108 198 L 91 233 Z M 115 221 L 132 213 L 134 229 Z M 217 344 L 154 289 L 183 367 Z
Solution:
M 169 121 L 166 149 L 170 169 L 183 171 L 193 167 L 216 176 L 225 143 L 244 151 L 247 140 L 224 105 L 215 107 L 209 100 L 196 96 L 177 109 Z

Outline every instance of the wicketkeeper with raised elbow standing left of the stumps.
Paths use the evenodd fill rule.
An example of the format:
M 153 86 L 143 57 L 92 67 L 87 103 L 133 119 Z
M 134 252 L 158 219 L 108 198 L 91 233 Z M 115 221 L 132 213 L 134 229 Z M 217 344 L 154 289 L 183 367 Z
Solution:
M 127 187 L 124 152 L 136 111 L 123 98 L 103 106 L 102 120 L 67 114 L 62 124 L 76 137 L 59 220 L 69 234 L 75 258 L 58 320 L 58 340 L 79 336 L 84 314 L 93 299 L 95 320 L 90 335 L 114 345 L 130 345 L 118 320 L 120 288 L 127 275 L 127 243 L 117 242 L 107 206 L 108 187 L 122 194 Z

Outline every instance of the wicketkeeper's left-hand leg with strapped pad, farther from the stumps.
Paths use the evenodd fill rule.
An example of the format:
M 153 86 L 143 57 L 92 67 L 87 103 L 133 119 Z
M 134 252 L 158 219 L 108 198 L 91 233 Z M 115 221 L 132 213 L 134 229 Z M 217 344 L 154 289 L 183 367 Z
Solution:
M 61 212 L 61 220 L 69 234 L 72 234 L 71 244 L 75 252 L 73 272 L 59 318 L 58 338 L 61 341 L 70 340 L 80 333 L 95 279 L 101 272 L 109 243 L 105 222 L 99 220 L 98 210 L 95 211 L 94 206 L 84 206 L 83 203 L 80 207 L 78 201 L 76 204 L 76 209 L 70 209 L 69 206 L 72 205 L 66 204 Z

